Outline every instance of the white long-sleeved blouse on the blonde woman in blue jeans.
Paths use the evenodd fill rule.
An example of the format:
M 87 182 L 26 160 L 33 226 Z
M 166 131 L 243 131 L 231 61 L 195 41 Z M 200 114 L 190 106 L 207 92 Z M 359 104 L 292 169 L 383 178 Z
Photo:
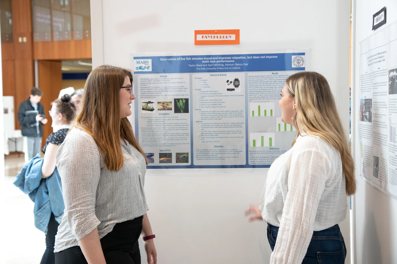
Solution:
M 270 264 L 299 264 L 313 231 L 346 218 L 345 174 L 341 156 L 318 136 L 299 136 L 270 166 L 259 211 L 279 226 Z

